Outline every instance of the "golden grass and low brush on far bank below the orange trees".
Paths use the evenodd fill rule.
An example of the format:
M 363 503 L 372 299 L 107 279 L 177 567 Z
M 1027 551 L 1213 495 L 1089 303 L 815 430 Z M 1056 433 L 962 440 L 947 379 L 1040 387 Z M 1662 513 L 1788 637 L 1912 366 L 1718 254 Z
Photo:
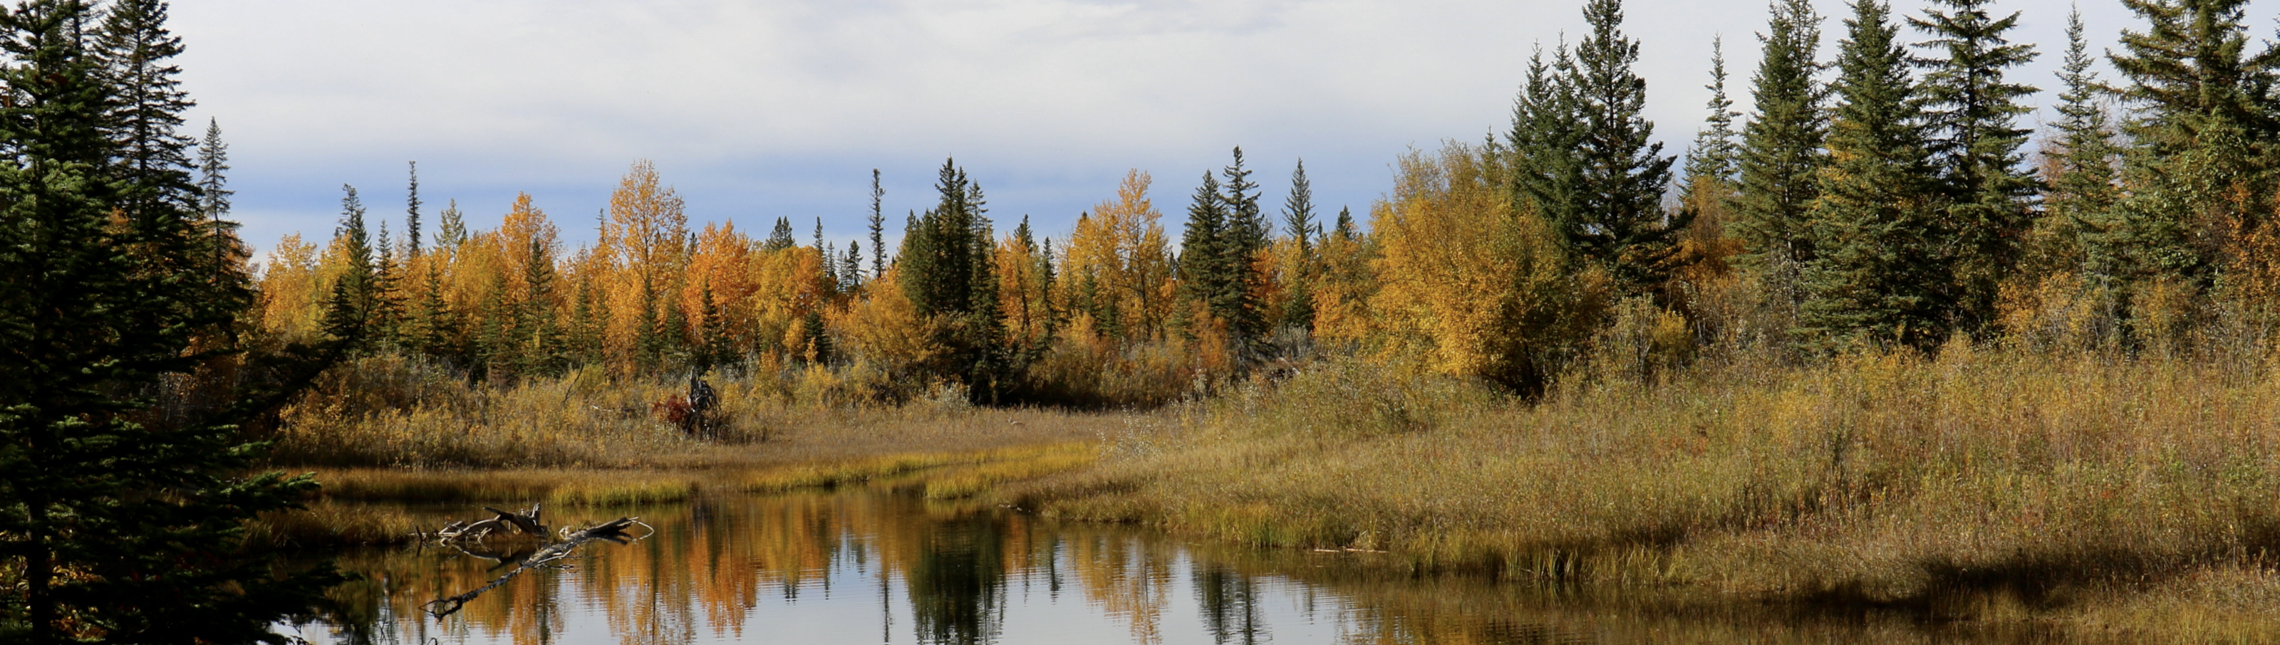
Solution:
M 586 369 L 470 385 L 420 360 L 376 356 L 328 372 L 315 394 L 290 406 L 271 460 L 333 470 L 762 470 L 1092 440 L 1131 417 L 971 408 L 955 397 L 853 403 L 834 394 L 839 378 L 828 369 L 714 376 L 723 428 L 691 438 L 650 415 L 650 403 L 682 392 L 677 378 Z

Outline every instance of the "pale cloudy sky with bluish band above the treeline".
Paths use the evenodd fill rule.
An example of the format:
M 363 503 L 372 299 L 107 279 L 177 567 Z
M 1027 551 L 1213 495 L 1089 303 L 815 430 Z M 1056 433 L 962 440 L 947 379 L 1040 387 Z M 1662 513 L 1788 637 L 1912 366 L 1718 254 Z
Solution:
M 1831 59 L 1849 9 L 1817 5 Z M 1906 16 L 1922 7 L 1897 0 Z M 2013 39 L 2043 55 L 2018 77 L 2050 103 L 2068 5 L 1995 7 L 2022 11 Z M 2275 9 L 2250 2 L 2253 34 L 2273 39 Z M 2139 25 L 2118 0 L 2082 11 L 2095 50 Z M 1749 109 L 1765 2 L 1630 0 L 1626 14 L 1664 155 L 1708 114 L 1715 36 Z M 527 191 L 572 244 L 593 239 L 636 160 L 693 223 L 764 235 L 787 217 L 805 242 L 821 219 L 841 246 L 864 235 L 871 169 L 891 244 L 905 212 L 933 205 L 948 157 L 1001 232 L 1026 214 L 1065 237 L 1140 169 L 1176 235 L 1233 146 L 1270 207 L 1304 160 L 1316 210 L 1366 221 L 1402 153 L 1500 132 L 1530 50 L 1585 32 L 1580 0 L 196 0 L 169 25 L 198 100 L 192 130 L 219 121 L 258 251 L 328 237 L 342 185 L 401 232 L 406 162 L 420 162 L 429 232 L 447 201 L 492 228 Z

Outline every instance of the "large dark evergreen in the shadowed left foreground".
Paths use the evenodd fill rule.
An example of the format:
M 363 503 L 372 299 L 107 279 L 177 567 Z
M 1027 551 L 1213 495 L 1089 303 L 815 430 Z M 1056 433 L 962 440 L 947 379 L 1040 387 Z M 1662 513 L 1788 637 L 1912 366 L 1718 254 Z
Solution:
M 166 41 L 164 5 L 121 7 L 155 9 L 137 39 Z M 267 627 L 335 574 L 278 574 L 242 545 L 246 520 L 315 488 L 246 476 L 262 444 L 242 422 L 337 346 L 237 351 L 228 326 L 251 292 L 212 267 L 189 141 L 119 137 L 180 119 L 107 109 L 135 75 L 96 21 L 73 0 L 0 16 L 0 643 L 283 640 Z M 162 73 L 137 82 L 171 82 L 141 64 Z

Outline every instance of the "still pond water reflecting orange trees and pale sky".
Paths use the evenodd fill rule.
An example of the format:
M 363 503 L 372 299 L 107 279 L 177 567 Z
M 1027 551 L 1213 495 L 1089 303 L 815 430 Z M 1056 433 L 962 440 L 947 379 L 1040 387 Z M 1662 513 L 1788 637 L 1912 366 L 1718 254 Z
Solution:
M 474 515 L 474 513 L 458 513 Z M 449 547 L 360 549 L 310 643 L 2036 643 L 1954 624 L 1797 613 L 1678 590 L 1414 577 L 1382 554 L 1188 545 L 891 488 L 549 511 L 641 515 L 435 618 L 508 565 Z M 447 515 L 435 515 L 442 524 Z

